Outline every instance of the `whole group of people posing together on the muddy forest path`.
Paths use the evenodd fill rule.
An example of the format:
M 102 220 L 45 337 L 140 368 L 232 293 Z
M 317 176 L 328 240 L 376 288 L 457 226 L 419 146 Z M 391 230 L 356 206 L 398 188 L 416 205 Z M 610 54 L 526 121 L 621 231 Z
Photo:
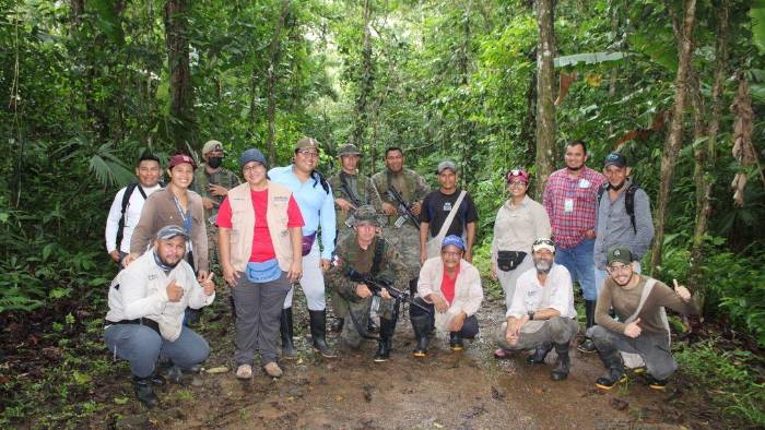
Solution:
M 386 150 L 385 169 L 372 177 L 360 174 L 362 153 L 352 144 L 340 148 L 340 171 L 330 178 L 317 169 L 319 154 L 319 142 L 302 138 L 290 165 L 269 169 L 263 154 L 249 148 L 239 155 L 240 183 L 222 167 L 223 144 L 210 141 L 199 167 L 189 155 L 170 157 L 164 187 L 160 159 L 141 157 L 138 182 L 117 193 L 107 219 L 107 252 L 123 268 L 109 288 L 105 341 L 130 361 L 145 405 L 157 403 L 152 385 L 177 381 L 207 358 L 207 342 L 189 325 L 192 310 L 215 298 L 215 270 L 231 290 L 239 379 L 252 378 L 256 353 L 273 378 L 282 375 L 280 359 L 297 356 L 297 285 L 311 346 L 326 358 L 336 356 L 326 337 L 327 292 L 341 343 L 355 348 L 376 339 L 376 362 L 390 358 L 404 301 L 415 358 L 427 356 L 438 332 L 448 333 L 454 351 L 478 334 L 478 210 L 458 187 L 457 166 L 438 164 L 439 188 L 431 191 L 404 167 L 400 147 Z M 548 178 L 542 204 L 527 195 L 523 169 L 506 175 L 509 199 L 494 223 L 491 276 L 502 284 L 507 320 L 494 355 L 532 350 L 527 361 L 543 363 L 554 348 L 551 377 L 566 379 L 579 332 L 578 282 L 587 315 L 578 349 L 597 351 L 608 370 L 596 384 L 608 390 L 625 380 L 624 353 L 662 389 L 676 367 L 664 307 L 682 313 L 697 307 L 684 287 L 639 274 L 654 231 L 649 200 L 628 178 L 625 157 L 610 154 L 603 176 L 586 166 L 586 144 L 575 141 L 565 162 Z

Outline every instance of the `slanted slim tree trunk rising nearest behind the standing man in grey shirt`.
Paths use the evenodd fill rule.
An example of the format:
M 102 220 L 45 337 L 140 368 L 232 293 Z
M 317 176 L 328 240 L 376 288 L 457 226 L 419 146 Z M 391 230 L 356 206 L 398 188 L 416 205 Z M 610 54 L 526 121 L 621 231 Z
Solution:
M 668 7 L 669 8 L 669 7 Z M 667 220 L 667 206 L 669 205 L 669 193 L 672 188 L 672 177 L 678 163 L 678 155 L 683 143 L 683 114 L 685 110 L 685 99 L 688 84 L 688 70 L 691 68 L 691 57 L 693 55 L 693 31 L 696 23 L 696 0 L 683 1 L 683 21 L 679 21 L 672 14 L 678 38 L 678 74 L 674 80 L 674 108 L 670 122 L 669 134 L 664 142 L 664 151 L 661 156 L 661 174 L 659 186 L 659 199 L 656 208 L 656 236 L 651 249 L 651 271 L 661 266 L 661 248 L 664 242 L 664 223 Z

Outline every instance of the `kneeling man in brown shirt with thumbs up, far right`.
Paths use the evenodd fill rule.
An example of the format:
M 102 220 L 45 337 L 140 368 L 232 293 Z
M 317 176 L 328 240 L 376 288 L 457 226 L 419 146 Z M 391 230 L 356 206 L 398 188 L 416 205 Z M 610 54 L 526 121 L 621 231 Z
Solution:
M 612 248 L 607 253 L 609 277 L 603 283 L 593 325 L 587 331 L 598 348 L 608 373 L 598 378 L 596 386 L 610 390 L 626 381 L 620 351 L 637 354 L 646 363 L 648 382 L 654 390 L 664 390 L 667 379 L 678 363 L 670 351 L 669 322 L 664 307 L 679 313 L 697 314 L 698 306 L 691 292 L 635 272 L 628 248 Z M 611 318 L 613 308 L 619 321 Z

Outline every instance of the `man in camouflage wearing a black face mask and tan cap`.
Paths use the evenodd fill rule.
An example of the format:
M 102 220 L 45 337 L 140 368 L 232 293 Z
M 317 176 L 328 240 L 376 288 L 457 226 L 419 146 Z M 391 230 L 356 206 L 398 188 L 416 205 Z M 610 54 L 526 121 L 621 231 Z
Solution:
M 208 259 L 210 271 L 217 266 L 217 226 L 215 217 L 217 208 L 228 190 L 242 183 L 239 178 L 228 169 L 221 167 L 223 163 L 223 144 L 219 141 L 208 141 L 202 147 L 204 163 L 195 170 L 191 191 L 202 196 L 204 206 L 204 219 L 208 229 Z

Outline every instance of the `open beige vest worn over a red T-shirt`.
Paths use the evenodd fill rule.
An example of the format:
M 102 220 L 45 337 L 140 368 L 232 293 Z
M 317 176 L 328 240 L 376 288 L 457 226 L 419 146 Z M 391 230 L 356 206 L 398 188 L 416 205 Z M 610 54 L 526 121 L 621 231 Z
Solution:
M 290 271 L 292 264 L 292 244 L 287 230 L 287 207 L 292 192 L 278 183 L 268 181 L 268 211 L 266 222 L 271 234 L 273 251 L 279 261 L 279 267 Z M 231 204 L 231 262 L 237 272 L 244 272 L 252 253 L 252 236 L 255 235 L 255 210 L 250 196 L 249 183 L 245 182 L 228 190 Z

